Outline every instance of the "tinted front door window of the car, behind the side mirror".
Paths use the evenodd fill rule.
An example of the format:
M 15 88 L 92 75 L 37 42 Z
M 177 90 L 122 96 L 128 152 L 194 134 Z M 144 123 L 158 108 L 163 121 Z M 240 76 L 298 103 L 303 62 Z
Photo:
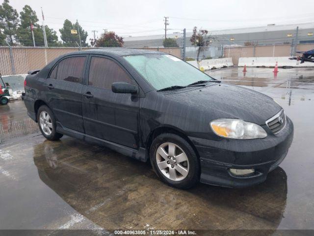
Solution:
M 104 89 L 111 89 L 114 82 L 134 84 L 130 76 L 116 62 L 92 57 L 89 67 L 88 84 Z

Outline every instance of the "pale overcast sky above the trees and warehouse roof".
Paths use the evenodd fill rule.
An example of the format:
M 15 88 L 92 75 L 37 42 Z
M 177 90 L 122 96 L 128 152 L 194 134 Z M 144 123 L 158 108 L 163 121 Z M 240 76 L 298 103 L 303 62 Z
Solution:
M 2 0 L 0 0 L 2 3 Z M 57 31 L 65 19 L 78 23 L 92 37 L 92 30 L 115 31 L 127 37 L 164 33 L 194 26 L 202 29 L 232 29 L 314 22 L 314 0 L 10 0 L 20 11 L 30 5 L 41 21 Z M 87 39 L 88 39 L 87 38 Z

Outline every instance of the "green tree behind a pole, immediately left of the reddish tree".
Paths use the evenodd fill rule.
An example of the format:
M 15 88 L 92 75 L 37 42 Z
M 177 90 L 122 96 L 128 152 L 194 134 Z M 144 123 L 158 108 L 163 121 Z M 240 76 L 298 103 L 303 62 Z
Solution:
M 82 29 L 82 27 L 78 24 L 72 24 L 71 21 L 69 21 L 68 19 L 66 19 L 63 23 L 63 28 L 59 29 L 60 33 L 61 33 L 61 39 L 63 41 L 63 45 L 64 46 L 69 46 L 69 47 L 77 47 L 79 45 L 79 37 L 78 34 L 71 34 L 71 29 L 79 29 L 79 35 L 80 35 L 80 40 L 82 43 L 83 47 L 87 46 L 86 43 L 86 38 L 87 38 L 87 32 Z M 78 45 L 77 45 L 77 43 Z

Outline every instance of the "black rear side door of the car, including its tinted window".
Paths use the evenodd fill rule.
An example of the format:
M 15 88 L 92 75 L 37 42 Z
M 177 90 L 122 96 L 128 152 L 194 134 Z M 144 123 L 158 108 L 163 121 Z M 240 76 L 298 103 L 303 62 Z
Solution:
M 57 122 L 81 133 L 84 133 L 81 91 L 86 63 L 86 55 L 62 59 L 54 65 L 46 82 L 47 101 Z

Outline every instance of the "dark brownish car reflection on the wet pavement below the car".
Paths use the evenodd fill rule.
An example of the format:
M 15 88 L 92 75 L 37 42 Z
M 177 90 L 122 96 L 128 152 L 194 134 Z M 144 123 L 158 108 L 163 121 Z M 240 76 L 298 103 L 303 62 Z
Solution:
M 45 184 L 107 230 L 143 229 L 152 222 L 155 229 L 269 227 L 271 235 L 286 208 L 287 175 L 280 167 L 257 186 L 198 184 L 184 191 L 160 182 L 148 163 L 72 138 L 36 145 L 34 163 Z

